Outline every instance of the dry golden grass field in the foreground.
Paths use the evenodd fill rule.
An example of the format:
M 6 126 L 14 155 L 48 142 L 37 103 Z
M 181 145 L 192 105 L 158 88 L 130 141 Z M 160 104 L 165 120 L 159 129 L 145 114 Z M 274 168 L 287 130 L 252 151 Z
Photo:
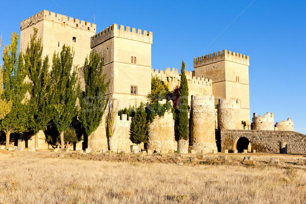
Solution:
M 306 203 L 303 168 L 0 152 L 0 203 Z

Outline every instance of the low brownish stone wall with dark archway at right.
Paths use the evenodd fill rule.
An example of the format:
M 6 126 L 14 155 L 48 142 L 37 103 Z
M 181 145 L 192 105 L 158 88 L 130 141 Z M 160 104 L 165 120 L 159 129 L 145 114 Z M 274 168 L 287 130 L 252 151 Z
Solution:
M 306 153 L 306 135 L 293 131 L 221 130 L 221 150 L 234 149 L 240 137 L 246 137 L 251 149 L 258 152 L 279 152 L 279 141 L 288 143 L 288 152 Z

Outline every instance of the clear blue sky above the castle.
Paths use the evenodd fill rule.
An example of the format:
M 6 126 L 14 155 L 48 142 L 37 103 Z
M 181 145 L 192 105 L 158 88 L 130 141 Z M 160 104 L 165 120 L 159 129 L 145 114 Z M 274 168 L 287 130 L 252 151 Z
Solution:
M 1 7 L 5 44 L 20 21 L 46 9 L 89 22 L 95 13 L 98 32 L 113 23 L 152 31 L 155 69 L 180 68 L 184 59 L 191 71 L 193 57 L 222 49 L 248 55 L 251 115 L 291 117 L 306 134 L 306 1 L 4 0 Z

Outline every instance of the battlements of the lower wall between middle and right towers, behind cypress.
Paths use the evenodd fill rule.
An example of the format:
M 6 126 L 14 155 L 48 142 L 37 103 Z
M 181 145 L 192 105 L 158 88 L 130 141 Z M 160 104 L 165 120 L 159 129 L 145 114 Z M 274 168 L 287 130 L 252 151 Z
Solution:
M 165 71 L 158 69 L 151 69 L 152 77 L 155 75 L 164 82 L 173 83 L 181 80 L 181 74 L 175 68 L 165 68 Z M 202 77 L 195 77 L 193 71 L 185 71 L 188 83 L 211 86 L 212 80 Z

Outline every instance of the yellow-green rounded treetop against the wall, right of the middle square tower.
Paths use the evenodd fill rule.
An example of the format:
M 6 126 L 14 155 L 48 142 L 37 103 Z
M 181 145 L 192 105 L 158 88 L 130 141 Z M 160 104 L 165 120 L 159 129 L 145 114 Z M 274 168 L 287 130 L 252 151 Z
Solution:
M 158 103 L 159 100 L 168 99 L 170 96 L 169 87 L 157 76 L 151 79 L 151 93 L 147 95 L 150 103 Z

